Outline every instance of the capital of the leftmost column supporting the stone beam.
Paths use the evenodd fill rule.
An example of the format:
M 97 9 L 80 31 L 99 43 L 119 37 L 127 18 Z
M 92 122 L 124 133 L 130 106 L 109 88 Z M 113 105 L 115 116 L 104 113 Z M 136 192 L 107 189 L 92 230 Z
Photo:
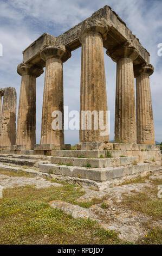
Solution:
M 38 77 L 43 74 L 44 70 L 42 67 L 32 64 L 21 63 L 17 66 L 17 73 L 20 76 L 31 75 Z

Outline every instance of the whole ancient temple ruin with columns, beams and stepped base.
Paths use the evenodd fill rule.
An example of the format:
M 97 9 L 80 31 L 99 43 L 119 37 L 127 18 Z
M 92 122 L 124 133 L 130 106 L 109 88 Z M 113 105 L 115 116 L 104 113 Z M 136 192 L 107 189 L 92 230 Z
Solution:
M 95 130 L 93 127 L 91 130 L 82 130 L 80 122 L 80 142 L 77 150 L 70 151 L 70 145 L 64 144 L 63 129 L 52 129 L 51 113 L 57 110 L 63 115 L 63 63 L 67 62 L 72 52 L 79 47 L 82 47 L 80 112 L 107 111 L 103 47 L 106 48 L 107 58 L 112 58 L 116 63 L 115 142 L 109 143 L 109 136 L 101 136 L 100 129 Z M 46 73 L 41 141 L 40 144 L 36 144 L 36 78 L 43 73 L 44 67 Z M 50 167 L 48 164 L 40 164 L 41 172 L 47 172 L 50 168 L 58 174 L 59 171 L 56 169 L 59 163 L 70 163 L 79 166 L 80 169 L 77 168 L 76 174 L 75 172 L 72 174 L 72 167 L 69 167 L 70 174 L 67 168 L 61 169 L 60 175 L 77 178 L 77 175 L 81 174 L 81 178 L 96 181 L 108 178 L 101 178 L 100 175 L 103 175 L 101 170 L 96 174 L 97 169 L 87 170 L 85 166 L 89 163 L 90 167 L 95 168 L 114 167 L 111 158 L 106 158 L 107 151 L 110 151 L 112 157 L 119 158 L 118 161 L 115 160 L 116 166 L 123 164 L 127 166 L 132 161 L 141 163 L 135 170 L 135 167 L 132 167 L 133 171 L 127 174 L 148 170 L 149 164 L 142 162 L 152 157 L 155 160 L 160 158 L 159 147 L 155 146 L 149 78 L 153 71 L 150 54 L 132 34 L 126 23 L 107 5 L 57 37 L 44 33 L 23 51 L 23 63 L 17 66 L 17 73 L 22 76 L 22 81 L 16 142 L 14 135 L 10 140 L 11 143 L 3 139 L 4 135 L 8 135 L 1 129 L 1 154 L 53 156 Z M 15 102 L 16 95 L 14 92 L 12 94 Z M 5 104 L 3 105 L 1 126 L 5 112 Z M 11 109 L 12 118 L 15 120 L 14 103 Z M 14 132 L 15 126 L 12 129 Z M 63 153 L 62 149 L 64 149 Z M 77 157 L 80 155 L 83 159 L 78 160 Z M 102 160 L 99 158 L 100 155 L 103 156 Z M 125 161 L 120 159 L 121 155 L 125 156 Z M 89 160 L 88 157 L 92 159 Z M 135 158 L 130 160 L 129 157 Z M 122 175 L 124 173 L 125 171 Z

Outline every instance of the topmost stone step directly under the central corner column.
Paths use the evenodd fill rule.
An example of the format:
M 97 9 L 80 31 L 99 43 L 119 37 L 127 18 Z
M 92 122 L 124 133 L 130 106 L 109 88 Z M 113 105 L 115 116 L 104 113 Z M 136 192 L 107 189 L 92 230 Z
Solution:
M 51 153 L 52 156 L 90 158 L 107 157 L 108 154 L 112 157 L 127 156 L 127 150 L 53 150 Z

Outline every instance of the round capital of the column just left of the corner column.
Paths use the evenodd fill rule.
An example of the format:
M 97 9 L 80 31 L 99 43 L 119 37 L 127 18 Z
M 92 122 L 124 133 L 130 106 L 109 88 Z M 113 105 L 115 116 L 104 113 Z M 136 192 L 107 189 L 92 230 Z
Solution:
M 66 62 L 66 60 L 68 60 L 72 54 L 66 49 L 64 45 L 59 45 L 42 48 L 40 51 L 40 56 L 41 59 L 43 59 L 45 62 L 50 58 L 58 58 L 61 59 L 62 62 Z

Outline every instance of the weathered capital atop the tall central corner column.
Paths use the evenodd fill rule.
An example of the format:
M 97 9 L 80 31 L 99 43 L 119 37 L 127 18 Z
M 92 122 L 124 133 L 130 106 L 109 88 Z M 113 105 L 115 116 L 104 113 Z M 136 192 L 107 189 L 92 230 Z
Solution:
M 91 33 L 100 33 L 103 38 L 107 35 L 107 32 L 109 31 L 109 26 L 107 25 L 105 19 L 91 19 L 91 20 L 85 20 L 82 23 L 81 31 L 79 35 L 79 40 L 82 42 L 83 36 Z

